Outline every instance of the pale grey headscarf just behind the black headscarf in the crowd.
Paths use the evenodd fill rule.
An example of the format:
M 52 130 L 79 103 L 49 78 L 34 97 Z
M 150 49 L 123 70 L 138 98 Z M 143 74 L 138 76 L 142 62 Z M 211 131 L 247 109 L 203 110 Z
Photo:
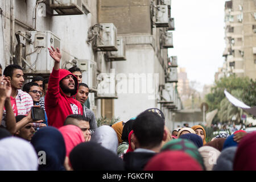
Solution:
M 92 135 L 90 141 L 99 143 L 102 147 L 105 147 L 106 149 L 114 152 L 114 154 L 117 154 L 117 133 L 115 133 L 115 130 L 108 125 L 98 127 L 98 129 Z

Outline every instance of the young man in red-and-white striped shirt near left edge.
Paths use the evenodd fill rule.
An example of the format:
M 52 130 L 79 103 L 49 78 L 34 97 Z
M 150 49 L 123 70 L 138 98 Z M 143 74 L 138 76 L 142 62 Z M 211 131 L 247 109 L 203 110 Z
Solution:
M 33 100 L 30 94 L 21 90 L 24 78 L 23 71 L 19 65 L 11 64 L 5 68 L 3 75 L 11 82 L 11 106 L 13 107 L 14 115 L 27 115 L 33 106 Z M 4 114 L 5 115 L 5 110 Z M 5 126 L 5 122 L 2 122 Z

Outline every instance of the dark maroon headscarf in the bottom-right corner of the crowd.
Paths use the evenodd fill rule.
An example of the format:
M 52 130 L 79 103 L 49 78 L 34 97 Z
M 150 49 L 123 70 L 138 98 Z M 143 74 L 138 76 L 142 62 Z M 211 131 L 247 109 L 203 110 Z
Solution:
M 245 135 L 237 146 L 234 171 L 256 171 L 256 131 Z

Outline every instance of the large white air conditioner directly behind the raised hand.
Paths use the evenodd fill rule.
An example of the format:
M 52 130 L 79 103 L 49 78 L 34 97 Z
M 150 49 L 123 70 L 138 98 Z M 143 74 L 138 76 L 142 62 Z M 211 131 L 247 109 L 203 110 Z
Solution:
M 54 60 L 49 55 L 48 47 L 60 49 L 60 39 L 51 31 L 27 31 L 30 40 L 26 40 L 24 73 L 51 73 Z

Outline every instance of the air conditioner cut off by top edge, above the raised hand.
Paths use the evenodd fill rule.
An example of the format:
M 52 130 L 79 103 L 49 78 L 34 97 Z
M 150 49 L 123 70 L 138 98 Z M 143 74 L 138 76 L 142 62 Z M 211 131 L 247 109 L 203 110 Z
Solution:
M 48 0 L 52 15 L 80 15 L 84 14 L 82 0 Z

